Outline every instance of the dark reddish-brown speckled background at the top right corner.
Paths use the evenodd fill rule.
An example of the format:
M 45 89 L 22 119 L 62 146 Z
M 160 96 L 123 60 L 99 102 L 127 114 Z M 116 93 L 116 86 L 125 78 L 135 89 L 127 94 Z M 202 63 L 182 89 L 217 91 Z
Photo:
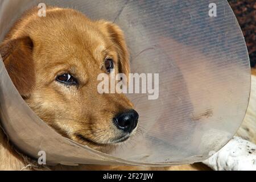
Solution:
M 251 67 L 256 67 L 256 1 L 228 0 L 245 36 Z M 255 72 L 255 70 L 254 70 Z

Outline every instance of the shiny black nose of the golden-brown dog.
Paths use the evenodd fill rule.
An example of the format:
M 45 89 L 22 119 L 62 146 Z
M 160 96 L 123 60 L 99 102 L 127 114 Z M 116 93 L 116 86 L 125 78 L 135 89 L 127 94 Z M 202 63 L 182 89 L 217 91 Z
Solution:
M 139 114 L 135 110 L 128 110 L 114 117 L 118 129 L 131 133 L 138 125 Z

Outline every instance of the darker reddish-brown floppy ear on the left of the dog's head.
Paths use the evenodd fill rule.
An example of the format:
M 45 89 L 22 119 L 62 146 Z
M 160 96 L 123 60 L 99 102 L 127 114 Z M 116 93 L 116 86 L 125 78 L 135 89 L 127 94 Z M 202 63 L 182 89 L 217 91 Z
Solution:
M 3 42 L 0 55 L 6 70 L 22 97 L 29 97 L 35 84 L 32 40 L 26 36 Z

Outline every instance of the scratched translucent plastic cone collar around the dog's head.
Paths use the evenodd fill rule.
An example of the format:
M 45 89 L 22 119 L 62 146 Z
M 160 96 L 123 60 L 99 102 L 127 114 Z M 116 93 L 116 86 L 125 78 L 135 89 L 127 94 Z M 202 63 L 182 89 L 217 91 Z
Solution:
M 0 39 L 39 2 L 72 7 L 122 28 L 132 73 L 159 73 L 159 98 L 129 94 L 141 115 L 139 134 L 111 154 L 61 137 L 24 103 L 0 64 L 2 126 L 26 154 L 51 164 L 164 166 L 199 162 L 236 133 L 250 93 L 249 57 L 226 1 L 0 0 Z M 209 16 L 216 3 L 217 16 Z

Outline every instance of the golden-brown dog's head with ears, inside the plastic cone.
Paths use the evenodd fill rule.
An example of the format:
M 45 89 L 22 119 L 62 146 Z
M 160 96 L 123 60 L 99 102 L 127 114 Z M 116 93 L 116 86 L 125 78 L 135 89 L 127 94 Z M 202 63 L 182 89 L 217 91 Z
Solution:
M 129 73 L 119 27 L 74 10 L 31 11 L 12 28 L 0 53 L 28 105 L 65 137 L 92 147 L 120 143 L 137 128 L 138 113 L 123 94 L 100 94 L 100 73 Z

